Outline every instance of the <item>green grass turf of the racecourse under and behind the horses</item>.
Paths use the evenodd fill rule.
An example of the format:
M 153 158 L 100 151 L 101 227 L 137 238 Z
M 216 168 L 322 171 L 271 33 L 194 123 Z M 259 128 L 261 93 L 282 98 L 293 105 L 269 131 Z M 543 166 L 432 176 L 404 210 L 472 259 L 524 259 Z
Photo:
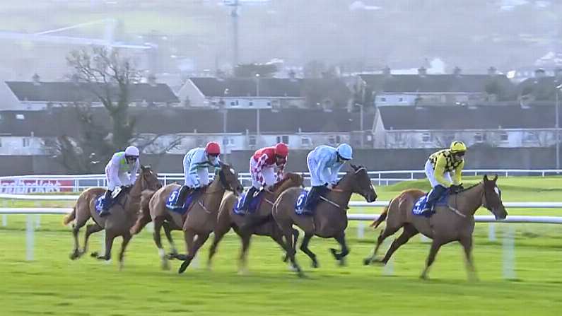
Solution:
M 508 178 L 498 185 L 504 201 L 561 201 L 560 180 Z M 377 193 L 381 200 L 390 199 L 421 184 L 377 187 Z M 380 208 L 351 211 L 378 213 Z M 557 210 L 549 212 L 556 215 Z M 298 279 L 281 262 L 274 242 L 259 237 L 252 240 L 250 275 L 236 274 L 240 242 L 233 234 L 221 243 L 213 271 L 203 268 L 208 245 L 201 250 L 198 269 L 178 276 L 179 264 L 173 262 L 172 271 L 161 271 L 148 230 L 129 245 L 123 271 L 115 260 L 104 264 L 83 257 L 72 262 L 71 233 L 61 226 L 61 217 L 41 220 L 34 262 L 25 262 L 25 216 L 8 216 L 8 226 L 0 227 L 1 315 L 559 315 L 562 308 L 560 226 L 515 225 L 517 279 L 505 281 L 502 235 L 508 225 L 496 225 L 498 240 L 492 242 L 487 224 L 478 224 L 474 257 L 481 281 L 470 283 L 457 244 L 440 250 L 431 281 L 419 281 L 428 244 L 417 236 L 395 254 L 394 276 L 384 276 L 382 267 L 363 267 L 361 259 L 372 250 L 378 231 L 368 230 L 358 239 L 358 223 L 351 223 L 347 232 L 347 267 L 337 267 L 327 251 L 336 246 L 333 240 L 313 238 L 311 249 L 320 268 L 310 268 L 308 257 L 298 252 L 308 275 Z M 179 232 L 175 238 L 182 245 Z M 93 235 L 90 246 L 100 248 L 100 235 Z

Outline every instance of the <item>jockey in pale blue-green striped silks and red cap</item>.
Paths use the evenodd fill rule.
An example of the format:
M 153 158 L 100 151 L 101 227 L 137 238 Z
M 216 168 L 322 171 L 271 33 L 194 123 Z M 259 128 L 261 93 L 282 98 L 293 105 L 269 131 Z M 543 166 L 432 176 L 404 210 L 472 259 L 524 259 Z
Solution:
M 184 185 L 180 188 L 175 207 L 183 205 L 189 190 L 201 189 L 209 185 L 209 166 L 220 167 L 221 146 L 211 141 L 205 148 L 193 148 L 183 158 Z

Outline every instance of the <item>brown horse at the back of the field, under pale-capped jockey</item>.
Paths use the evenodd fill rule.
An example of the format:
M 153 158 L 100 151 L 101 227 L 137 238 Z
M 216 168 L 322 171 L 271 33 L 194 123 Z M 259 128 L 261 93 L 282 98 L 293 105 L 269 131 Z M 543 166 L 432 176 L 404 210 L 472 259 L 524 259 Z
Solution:
M 76 220 L 76 223 L 72 226 L 74 250 L 71 253 L 70 258 L 73 260 L 78 259 L 86 253 L 88 249 L 88 238 L 90 238 L 90 235 L 105 229 L 105 255 L 98 257 L 98 254 L 94 252 L 92 256 L 98 257 L 98 259 L 111 259 L 113 240 L 117 236 L 122 236 L 123 243 L 121 246 L 121 252 L 119 253 L 119 269 L 121 269 L 123 267 L 125 248 L 127 247 L 129 240 L 131 240 L 129 229 L 133 226 L 133 223 L 136 221 L 138 216 L 137 214 L 139 212 L 141 192 L 144 189 L 157 189 L 158 187 L 161 187 L 161 185 L 160 182 L 158 182 L 156 173 L 153 172 L 150 167 L 141 166 L 141 172 L 139 177 L 136 178 L 133 187 L 128 189 L 128 192 L 122 192 L 119 194 L 117 201 L 110 209 L 111 214 L 106 217 L 100 217 L 100 215 L 95 211 L 95 202 L 100 195 L 104 194 L 105 188 L 93 187 L 82 192 L 80 197 L 78 197 L 72 212 L 64 218 L 65 225 Z M 93 219 L 94 223 L 86 226 L 83 250 L 79 250 L 79 230 L 90 218 Z

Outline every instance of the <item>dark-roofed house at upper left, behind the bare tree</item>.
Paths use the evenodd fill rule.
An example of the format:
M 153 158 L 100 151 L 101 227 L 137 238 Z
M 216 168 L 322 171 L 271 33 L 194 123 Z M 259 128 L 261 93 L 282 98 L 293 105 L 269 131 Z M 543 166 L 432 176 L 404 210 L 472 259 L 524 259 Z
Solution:
M 18 110 L 46 110 L 51 107 L 67 107 L 76 103 L 88 103 L 93 107 L 103 106 L 96 97 L 96 93 L 105 90 L 103 83 L 81 83 L 78 81 L 42 82 L 35 74 L 33 81 L 6 81 L 9 93 L 0 93 L 15 97 L 20 103 Z M 117 100 L 118 90 L 111 91 L 114 100 Z M 102 93 L 103 94 L 103 93 Z M 147 83 L 135 83 L 129 90 L 130 106 L 138 107 L 168 107 L 179 106 L 177 99 L 168 85 L 156 83 L 156 78 L 151 76 Z M 12 108 L 12 107 L 10 107 Z M 6 109 L 6 108 L 4 108 Z

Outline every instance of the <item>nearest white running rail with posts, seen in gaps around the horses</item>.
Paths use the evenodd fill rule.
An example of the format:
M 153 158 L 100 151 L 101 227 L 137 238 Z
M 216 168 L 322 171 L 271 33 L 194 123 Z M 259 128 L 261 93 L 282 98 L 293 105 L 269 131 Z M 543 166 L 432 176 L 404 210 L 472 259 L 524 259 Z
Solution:
M 63 208 L 4 208 L 0 209 L 0 214 L 27 214 L 27 223 L 25 225 L 25 259 L 33 261 L 35 247 L 35 226 L 33 225 L 33 215 L 37 214 L 66 214 L 71 209 Z M 378 218 L 375 214 L 348 214 L 350 221 L 374 221 Z M 477 215 L 474 216 L 477 223 L 546 223 L 546 224 L 562 224 L 560 216 L 508 216 L 503 221 L 496 221 L 494 216 Z M 361 222 L 360 222 L 361 223 Z M 515 229 L 510 226 L 504 234 L 503 240 L 503 278 L 515 279 Z M 385 267 L 385 274 L 392 274 L 392 260 Z

